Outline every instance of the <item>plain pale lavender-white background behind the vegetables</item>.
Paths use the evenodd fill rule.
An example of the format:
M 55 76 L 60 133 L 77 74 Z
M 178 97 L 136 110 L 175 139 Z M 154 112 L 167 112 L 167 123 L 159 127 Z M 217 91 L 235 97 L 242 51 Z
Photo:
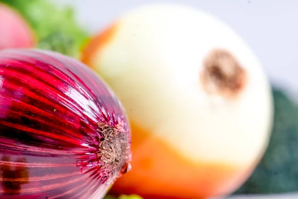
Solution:
M 122 13 L 156 0 L 53 0 L 74 6 L 78 22 L 101 31 Z M 167 2 L 169 0 L 163 0 Z M 208 11 L 232 27 L 254 50 L 274 83 L 298 96 L 298 0 L 171 0 Z M 244 198 L 234 198 L 244 199 Z M 298 195 L 245 199 L 298 199 Z

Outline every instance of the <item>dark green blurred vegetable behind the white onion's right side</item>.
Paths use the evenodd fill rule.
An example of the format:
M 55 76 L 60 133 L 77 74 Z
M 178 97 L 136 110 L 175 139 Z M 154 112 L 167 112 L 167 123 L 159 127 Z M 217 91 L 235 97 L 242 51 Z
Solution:
M 275 118 L 263 159 L 235 194 L 274 194 L 298 191 L 298 105 L 274 89 Z

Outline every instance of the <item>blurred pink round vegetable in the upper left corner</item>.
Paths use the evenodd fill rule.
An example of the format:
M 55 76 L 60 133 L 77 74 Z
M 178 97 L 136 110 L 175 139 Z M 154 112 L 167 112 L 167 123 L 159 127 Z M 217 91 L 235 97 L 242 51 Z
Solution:
M 35 36 L 27 22 L 16 10 L 0 3 L 0 50 L 34 45 Z

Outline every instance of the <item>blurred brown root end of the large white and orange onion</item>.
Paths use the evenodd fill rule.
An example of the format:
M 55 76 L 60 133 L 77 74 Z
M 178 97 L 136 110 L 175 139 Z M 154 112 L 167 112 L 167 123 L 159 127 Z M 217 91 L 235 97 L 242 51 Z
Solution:
M 230 98 L 243 90 L 246 71 L 230 52 L 215 49 L 204 59 L 200 79 L 207 93 Z

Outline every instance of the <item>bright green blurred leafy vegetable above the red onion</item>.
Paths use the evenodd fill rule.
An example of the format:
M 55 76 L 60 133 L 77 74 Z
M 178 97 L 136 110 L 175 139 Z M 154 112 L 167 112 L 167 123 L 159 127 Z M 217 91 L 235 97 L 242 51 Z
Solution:
M 38 48 L 78 58 L 87 33 L 74 19 L 71 7 L 60 8 L 48 0 L 0 0 L 15 8 L 31 25 Z

